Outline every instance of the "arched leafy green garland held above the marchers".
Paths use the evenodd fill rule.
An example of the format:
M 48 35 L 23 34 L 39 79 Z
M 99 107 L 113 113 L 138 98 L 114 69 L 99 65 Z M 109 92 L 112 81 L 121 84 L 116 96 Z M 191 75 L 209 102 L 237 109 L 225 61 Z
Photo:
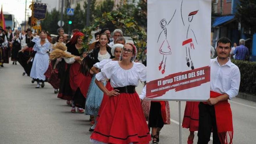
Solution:
M 95 19 L 90 26 L 84 28 L 83 48 L 80 49 L 80 53 L 88 51 L 89 42 L 93 38 L 91 32 L 99 26 L 106 25 L 107 22 L 112 22 L 118 29 L 124 29 L 125 33 L 132 38 L 134 45 L 137 47 L 138 60 L 143 60 L 146 57 L 147 34 L 145 30 L 138 26 L 132 17 L 123 15 L 122 13 L 103 13 L 101 18 Z

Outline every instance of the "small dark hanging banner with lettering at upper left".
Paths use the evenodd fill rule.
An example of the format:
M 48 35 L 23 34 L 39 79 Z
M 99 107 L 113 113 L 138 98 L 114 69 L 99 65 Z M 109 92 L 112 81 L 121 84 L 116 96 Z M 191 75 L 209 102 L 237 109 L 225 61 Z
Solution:
M 47 5 L 43 3 L 34 3 L 33 14 L 34 19 L 41 20 L 45 19 Z

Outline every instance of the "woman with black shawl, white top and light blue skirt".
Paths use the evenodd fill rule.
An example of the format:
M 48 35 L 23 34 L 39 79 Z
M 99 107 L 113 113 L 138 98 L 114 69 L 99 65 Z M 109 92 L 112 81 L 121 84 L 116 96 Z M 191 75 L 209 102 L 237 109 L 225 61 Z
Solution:
M 89 74 L 93 65 L 97 62 L 103 61 L 104 59 L 113 58 L 111 54 L 111 47 L 108 46 L 109 38 L 106 33 L 102 33 L 99 35 L 99 47 L 96 47 L 92 51 L 89 52 L 88 56 L 83 59 L 81 64 L 82 73 L 87 75 Z M 97 71 L 93 71 L 94 76 L 89 86 L 89 90 L 86 96 L 86 104 L 85 104 L 85 114 L 86 115 L 94 115 L 94 118 L 97 117 L 100 104 L 103 98 L 103 92 L 97 87 L 95 84 L 95 74 Z M 106 84 L 106 82 L 104 82 Z M 89 131 L 93 131 L 96 126 L 97 121 Z

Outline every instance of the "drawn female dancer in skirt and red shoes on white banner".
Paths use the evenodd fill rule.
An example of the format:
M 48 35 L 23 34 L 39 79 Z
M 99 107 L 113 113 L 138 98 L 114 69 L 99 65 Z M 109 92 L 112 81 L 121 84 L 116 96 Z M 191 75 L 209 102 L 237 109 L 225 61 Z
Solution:
M 168 22 L 168 24 L 167 24 L 167 22 L 166 22 L 166 19 L 161 19 L 161 21 L 160 21 L 160 26 L 161 26 L 161 28 L 162 28 L 163 30 L 162 30 L 162 31 L 160 32 L 160 34 L 159 34 L 157 43 L 158 43 L 159 38 L 160 38 L 160 35 L 161 35 L 162 33 L 164 33 L 164 36 L 165 36 L 165 39 L 163 40 L 163 42 L 161 43 L 161 46 L 160 46 L 160 48 L 159 48 L 159 53 L 163 55 L 163 59 L 162 59 L 161 63 L 159 64 L 159 67 L 158 67 L 159 70 L 162 69 L 163 60 L 165 59 L 164 65 L 163 65 L 162 74 L 165 72 L 166 56 L 172 54 L 170 45 L 169 45 L 168 40 L 167 40 L 166 24 L 167 24 L 167 26 L 170 24 L 170 22 L 172 21 L 172 19 L 173 19 L 175 13 L 176 13 L 176 9 L 175 9 L 175 12 L 173 13 L 172 18 L 171 18 L 170 21 Z M 167 43 L 167 46 L 166 46 L 165 42 Z M 165 45 L 164 45 L 164 44 L 165 44 Z

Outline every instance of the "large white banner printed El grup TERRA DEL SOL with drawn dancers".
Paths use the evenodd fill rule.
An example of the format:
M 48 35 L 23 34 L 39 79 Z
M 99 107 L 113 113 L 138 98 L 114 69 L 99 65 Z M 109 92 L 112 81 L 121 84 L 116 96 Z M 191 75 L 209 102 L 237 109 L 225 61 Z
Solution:
M 211 0 L 148 0 L 146 97 L 207 100 L 210 34 Z

